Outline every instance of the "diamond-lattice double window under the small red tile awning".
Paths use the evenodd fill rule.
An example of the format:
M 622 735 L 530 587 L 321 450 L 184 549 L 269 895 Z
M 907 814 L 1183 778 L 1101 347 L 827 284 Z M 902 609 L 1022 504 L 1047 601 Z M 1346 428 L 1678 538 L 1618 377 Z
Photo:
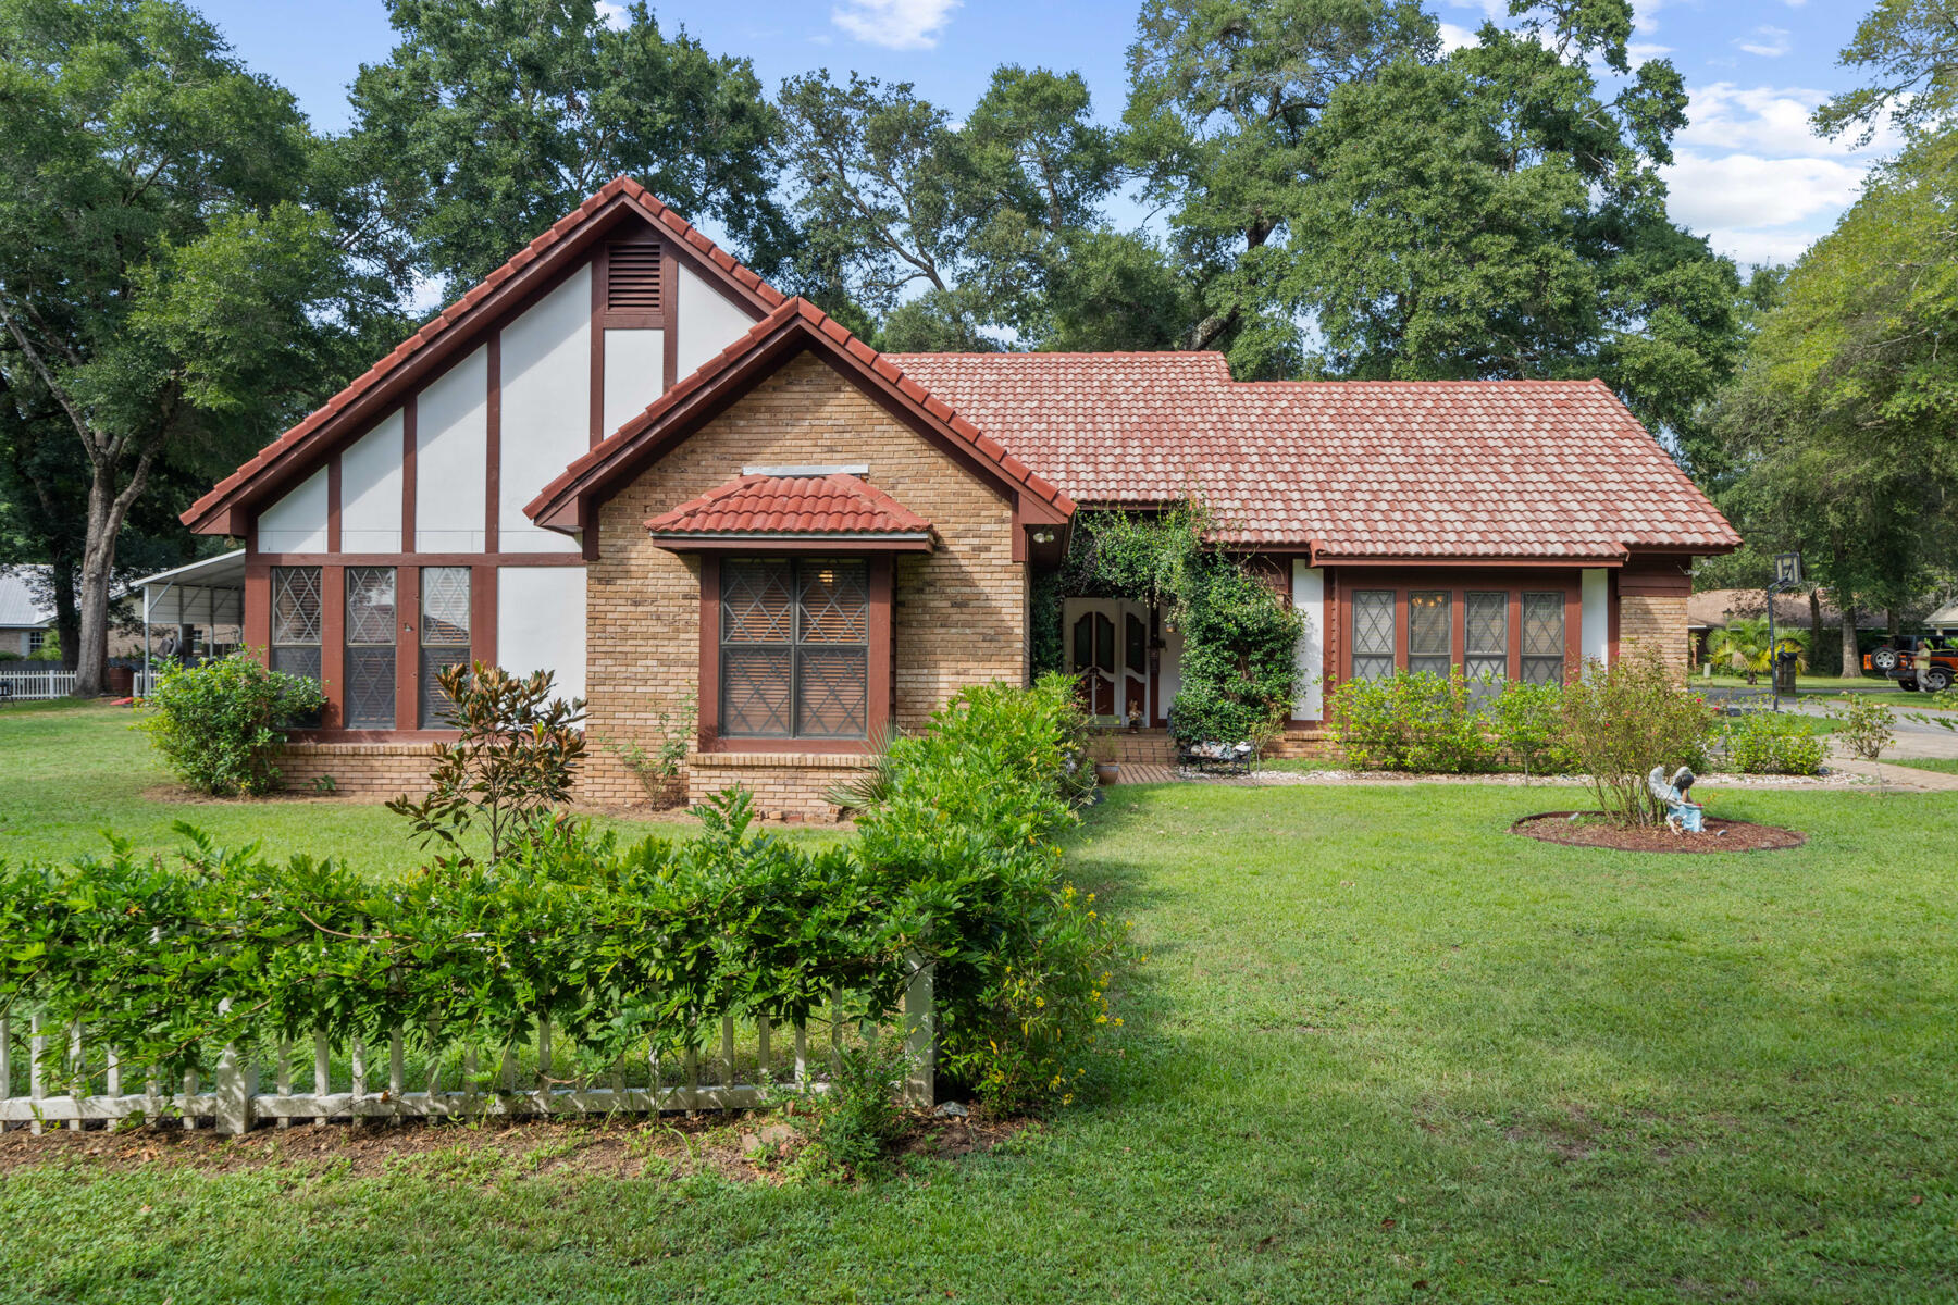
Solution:
M 869 734 L 869 563 L 723 563 L 721 734 Z

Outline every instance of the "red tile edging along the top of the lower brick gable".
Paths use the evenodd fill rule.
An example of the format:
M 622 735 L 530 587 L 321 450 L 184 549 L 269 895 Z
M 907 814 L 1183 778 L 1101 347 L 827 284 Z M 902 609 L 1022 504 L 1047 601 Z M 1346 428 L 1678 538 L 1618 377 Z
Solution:
M 1018 495 L 1020 511 L 1028 520 L 1061 522 L 1073 515 L 1073 501 L 1049 479 L 1036 473 L 1024 462 L 1006 452 L 997 440 L 965 421 L 942 399 L 932 397 L 914 380 L 905 376 L 889 356 L 879 354 L 863 340 L 803 297 L 787 299 L 773 313 L 758 321 L 746 335 L 703 362 L 691 376 L 654 399 L 646 411 L 632 417 L 580 456 L 572 466 L 544 485 L 523 509 L 525 515 L 544 526 L 566 528 L 576 520 L 578 501 L 603 487 L 607 479 L 619 475 L 634 464 L 634 458 L 656 446 L 662 427 L 676 419 L 695 397 L 705 397 L 717 383 L 754 356 L 766 354 L 783 344 L 807 344 L 826 350 L 844 366 L 856 366 L 867 385 L 881 387 L 901 405 L 912 409 L 926 425 L 942 434 L 952 446 L 965 452 L 979 466 L 987 468 L 1001 483 Z

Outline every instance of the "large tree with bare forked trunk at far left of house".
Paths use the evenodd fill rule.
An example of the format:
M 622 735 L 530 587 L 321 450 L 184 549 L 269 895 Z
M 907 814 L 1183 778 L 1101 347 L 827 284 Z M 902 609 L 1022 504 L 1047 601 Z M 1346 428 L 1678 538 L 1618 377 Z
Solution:
M 70 518 L 57 562 L 80 518 L 76 693 L 92 695 L 117 536 L 159 468 L 231 464 L 284 427 L 374 307 L 372 284 L 303 203 L 317 141 L 292 96 L 188 8 L 0 0 L 0 372 L 16 409 L 0 438 L 35 487 L 23 524 Z

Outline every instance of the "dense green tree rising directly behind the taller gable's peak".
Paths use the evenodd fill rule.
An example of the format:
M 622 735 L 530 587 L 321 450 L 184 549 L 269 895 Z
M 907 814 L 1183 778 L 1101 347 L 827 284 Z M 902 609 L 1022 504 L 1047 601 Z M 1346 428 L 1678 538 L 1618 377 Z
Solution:
M 399 45 L 362 65 L 354 137 L 382 217 L 460 293 L 625 172 L 713 219 L 768 274 L 793 245 L 769 198 L 781 119 L 746 59 L 668 37 L 642 0 L 390 0 Z

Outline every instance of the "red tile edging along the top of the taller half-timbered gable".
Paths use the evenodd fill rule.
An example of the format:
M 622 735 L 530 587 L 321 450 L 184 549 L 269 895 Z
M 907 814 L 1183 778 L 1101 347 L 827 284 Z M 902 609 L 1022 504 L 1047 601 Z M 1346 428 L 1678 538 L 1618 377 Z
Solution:
M 213 530 L 213 526 L 219 526 L 219 522 L 213 517 L 221 507 L 227 505 L 227 499 L 231 499 L 239 489 L 251 487 L 253 481 L 256 481 L 266 472 L 270 472 L 278 462 L 294 454 L 294 450 L 305 444 L 307 436 L 315 434 L 321 427 L 331 423 L 350 403 L 366 397 L 378 385 L 397 376 L 401 368 L 423 350 L 435 346 L 439 340 L 462 344 L 464 340 L 458 338 L 462 333 L 452 331 L 456 323 L 468 319 L 484 299 L 495 293 L 499 286 L 503 286 L 509 278 L 517 276 L 519 272 L 535 264 L 538 258 L 550 254 L 556 247 L 564 245 L 580 227 L 591 221 L 599 213 L 599 209 L 605 209 L 617 200 L 623 200 L 638 207 L 640 213 L 644 213 L 644 217 L 666 229 L 670 235 L 674 235 L 674 239 L 687 245 L 695 252 L 695 256 L 705 258 L 715 268 L 719 268 L 728 280 L 732 280 L 740 290 L 746 290 L 750 295 L 754 295 L 754 299 L 758 299 L 764 309 L 781 307 L 781 303 L 785 301 L 785 295 L 779 290 L 775 290 L 760 276 L 756 276 L 740 262 L 736 262 L 732 254 L 728 254 L 713 241 L 709 241 L 705 235 L 701 235 L 685 217 L 666 207 L 666 203 L 662 203 L 658 196 L 654 196 L 650 190 L 634 182 L 630 176 L 615 176 L 613 180 L 605 182 L 605 186 L 599 188 L 599 192 L 593 194 L 589 200 L 585 200 L 576 209 L 554 221 L 548 231 L 544 231 L 535 241 L 519 248 L 509 262 L 505 262 L 501 268 L 486 276 L 480 284 L 470 288 L 468 293 L 464 293 L 460 299 L 456 299 L 441 313 L 437 313 L 433 319 L 429 319 L 421 327 L 421 331 L 396 344 L 396 348 L 386 358 L 376 362 L 372 368 L 362 372 L 352 383 L 349 383 L 337 395 L 319 405 L 319 409 L 307 415 L 305 421 L 280 434 L 276 440 L 258 450 L 258 454 L 251 462 L 241 466 L 225 479 L 217 481 L 217 485 L 208 495 L 190 505 L 190 509 L 182 515 L 180 520 L 192 530 L 202 528 L 206 532 L 223 534 L 223 528 Z

